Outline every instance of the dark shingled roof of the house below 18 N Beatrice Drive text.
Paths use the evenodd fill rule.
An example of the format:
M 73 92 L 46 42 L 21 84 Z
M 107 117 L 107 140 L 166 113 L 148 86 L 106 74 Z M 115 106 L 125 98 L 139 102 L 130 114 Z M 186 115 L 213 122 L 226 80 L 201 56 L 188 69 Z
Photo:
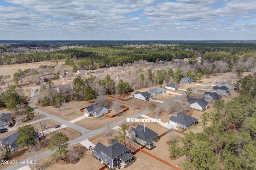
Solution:
M 129 133 L 132 131 L 134 131 L 136 137 L 142 139 L 143 141 L 146 141 L 147 143 L 153 143 L 154 141 L 152 141 L 152 139 L 158 136 L 158 133 L 152 131 L 148 127 L 145 127 L 144 132 L 144 127 L 142 125 L 137 125 L 136 128 L 131 127 Z

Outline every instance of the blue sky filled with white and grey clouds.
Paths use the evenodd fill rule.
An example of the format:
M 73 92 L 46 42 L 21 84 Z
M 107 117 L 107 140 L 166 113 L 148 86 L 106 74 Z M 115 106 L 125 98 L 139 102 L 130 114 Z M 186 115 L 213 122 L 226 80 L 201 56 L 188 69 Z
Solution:
M 0 0 L 0 40 L 256 40 L 256 0 Z

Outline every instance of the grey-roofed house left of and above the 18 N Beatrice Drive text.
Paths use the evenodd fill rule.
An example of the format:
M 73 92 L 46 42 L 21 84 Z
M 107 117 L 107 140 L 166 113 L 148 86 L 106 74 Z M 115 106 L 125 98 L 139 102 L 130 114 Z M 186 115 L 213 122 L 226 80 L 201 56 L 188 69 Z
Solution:
M 94 118 L 102 117 L 104 114 L 109 112 L 109 107 L 103 107 L 96 104 L 91 104 L 89 107 L 84 109 L 84 115 L 87 117 L 93 116 Z

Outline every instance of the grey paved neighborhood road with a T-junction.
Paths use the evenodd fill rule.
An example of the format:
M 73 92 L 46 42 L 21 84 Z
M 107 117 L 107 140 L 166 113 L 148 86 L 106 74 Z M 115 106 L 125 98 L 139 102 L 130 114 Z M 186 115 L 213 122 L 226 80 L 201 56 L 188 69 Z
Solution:
M 201 86 L 201 87 L 199 87 L 199 88 L 197 88 L 197 89 L 194 89 L 193 92 L 197 92 L 197 91 L 201 90 L 202 88 L 206 88 L 206 87 L 208 87 L 208 86 L 211 86 L 212 84 L 213 84 L 213 83 L 209 83 L 209 84 L 207 84 L 207 85 L 205 85 L 205 86 Z M 36 88 L 38 88 L 38 87 L 36 87 Z M 33 90 L 31 91 L 31 97 L 30 97 L 30 102 L 29 102 L 29 105 L 30 105 L 31 107 L 34 107 L 34 100 L 35 100 L 34 91 L 35 91 L 36 88 L 32 88 Z M 158 106 L 165 106 L 166 104 L 169 104 L 170 102 L 175 102 L 176 100 L 179 100 L 180 98 L 184 98 L 184 96 L 185 96 L 185 94 L 182 94 L 181 96 L 177 96 L 176 98 L 170 99 L 170 100 L 168 100 L 167 102 L 164 102 L 164 103 L 159 104 Z M 86 128 L 84 128 L 84 127 L 81 127 L 81 126 L 79 126 L 79 125 L 76 125 L 76 124 L 74 124 L 74 123 L 70 123 L 69 121 L 66 121 L 66 120 L 64 120 L 64 119 L 61 119 L 60 117 L 56 117 L 56 116 L 54 116 L 54 115 L 51 115 L 51 114 L 46 113 L 46 112 L 44 112 L 44 111 L 41 111 L 41 110 L 39 110 L 39 109 L 35 109 L 35 111 L 36 111 L 36 112 L 39 112 L 40 114 L 46 115 L 48 118 L 50 118 L 50 119 L 52 119 L 52 120 L 54 120 L 54 121 L 56 121 L 56 122 L 59 122 L 59 123 L 62 123 L 63 125 L 66 125 L 66 126 L 68 126 L 68 127 L 71 127 L 72 129 L 75 129 L 75 130 L 77 130 L 77 131 L 81 130 L 82 136 L 80 136 L 80 137 L 78 137 L 78 138 L 76 138 L 76 139 L 74 139 L 74 140 L 72 140 L 72 141 L 69 141 L 69 143 L 70 143 L 69 146 L 72 146 L 72 145 L 75 145 L 75 144 L 77 144 L 77 143 L 80 143 L 80 142 L 82 142 L 82 141 L 84 141 L 84 140 L 86 140 L 86 139 L 88 139 L 88 138 L 90 138 L 90 137 L 93 137 L 93 136 L 95 136 L 95 135 L 98 135 L 98 134 L 103 133 L 104 131 L 107 131 L 107 130 L 108 130 L 108 126 L 106 125 L 105 127 L 102 127 L 102 128 L 100 128 L 100 129 L 96 129 L 96 130 L 93 130 L 93 131 L 92 131 L 92 130 L 86 129 Z M 135 113 L 134 115 L 132 115 L 132 116 L 130 116 L 130 117 L 124 117 L 123 120 L 120 120 L 120 121 L 117 121 L 117 122 L 112 123 L 112 124 L 110 125 L 110 128 L 115 127 L 115 126 L 118 126 L 118 125 L 124 123 L 124 121 L 125 121 L 126 118 L 139 117 L 139 116 L 141 116 L 141 115 L 143 115 L 143 114 L 146 114 L 146 113 L 148 113 L 148 112 L 149 112 L 149 109 L 145 109 L 145 110 L 143 110 L 143 111 L 140 111 L 140 112 L 138 112 L 138 113 Z M 121 115 L 121 116 L 122 116 L 122 115 Z M 40 158 L 41 158 L 41 159 L 42 159 L 42 158 L 45 158 L 45 157 L 49 156 L 49 155 L 52 154 L 52 153 L 53 153 L 53 152 L 51 152 L 50 150 L 46 150 L 45 152 L 40 153 Z M 27 160 L 31 160 L 31 158 L 28 158 L 28 159 L 26 159 L 25 161 L 27 161 Z M 22 168 L 23 166 L 26 166 L 26 165 L 27 165 L 27 164 L 14 164 L 14 165 L 12 165 L 12 166 L 9 166 L 9 167 L 5 168 L 4 170 L 17 170 L 17 169 Z

